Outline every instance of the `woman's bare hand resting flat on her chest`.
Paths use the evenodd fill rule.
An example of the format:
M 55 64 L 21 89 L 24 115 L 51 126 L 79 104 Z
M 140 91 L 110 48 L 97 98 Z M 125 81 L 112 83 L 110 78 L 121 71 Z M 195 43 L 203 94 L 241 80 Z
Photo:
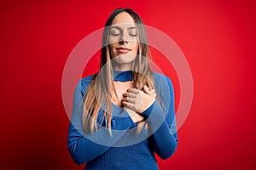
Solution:
M 143 111 L 146 111 L 148 107 L 154 103 L 156 94 L 154 89 L 149 90 L 145 85 L 143 91 L 137 88 L 127 89 L 123 97 L 122 104 L 125 105 L 125 107 L 137 113 L 143 113 Z

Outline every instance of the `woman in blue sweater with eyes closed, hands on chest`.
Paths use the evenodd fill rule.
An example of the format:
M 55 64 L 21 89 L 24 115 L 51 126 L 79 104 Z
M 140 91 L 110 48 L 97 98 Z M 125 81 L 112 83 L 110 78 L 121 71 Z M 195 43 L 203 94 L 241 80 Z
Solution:
M 177 148 L 170 79 L 150 70 L 140 17 L 118 8 L 103 31 L 101 70 L 76 88 L 68 150 L 84 169 L 158 169 Z

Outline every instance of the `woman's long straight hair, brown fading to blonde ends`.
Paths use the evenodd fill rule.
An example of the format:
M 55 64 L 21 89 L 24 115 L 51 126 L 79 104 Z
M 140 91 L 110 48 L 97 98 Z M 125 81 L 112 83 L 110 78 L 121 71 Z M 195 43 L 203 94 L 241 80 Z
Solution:
M 113 67 L 110 62 L 110 51 L 108 45 L 109 26 L 112 25 L 115 16 L 121 12 L 126 12 L 131 15 L 134 22 L 137 24 L 139 35 L 139 46 L 137 51 L 137 58 L 133 61 L 132 77 L 134 82 L 134 88 L 143 89 L 144 85 L 147 85 L 149 89 L 154 88 L 154 77 L 148 63 L 148 38 L 146 30 L 141 18 L 130 8 L 118 8 L 113 11 L 109 16 L 102 36 L 102 51 L 101 51 L 101 64 L 98 73 L 92 78 L 87 93 L 84 94 L 84 110 L 82 116 L 82 122 L 84 131 L 86 133 L 92 133 L 97 127 L 97 117 L 103 105 L 103 116 L 101 122 L 106 122 L 111 133 L 111 118 L 112 118 L 112 102 L 111 99 L 115 94 L 115 88 L 113 86 Z M 113 93 L 114 92 L 114 93 Z M 145 121 L 137 124 L 137 133 L 139 133 L 145 125 Z M 146 127 L 146 126 L 145 126 Z

